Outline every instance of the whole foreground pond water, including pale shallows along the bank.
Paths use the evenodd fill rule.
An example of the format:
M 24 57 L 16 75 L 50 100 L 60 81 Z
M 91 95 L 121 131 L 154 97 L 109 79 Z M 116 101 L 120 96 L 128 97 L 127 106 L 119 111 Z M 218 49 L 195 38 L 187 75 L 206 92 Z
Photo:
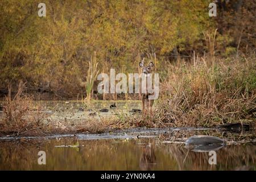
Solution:
M 216 165 L 208 163 L 208 152 L 185 148 L 185 140 L 199 134 L 226 140 Z M 46 152 L 46 165 L 38 164 L 39 151 Z M 192 128 L 0 138 L 0 170 L 255 170 L 255 152 L 255 133 Z

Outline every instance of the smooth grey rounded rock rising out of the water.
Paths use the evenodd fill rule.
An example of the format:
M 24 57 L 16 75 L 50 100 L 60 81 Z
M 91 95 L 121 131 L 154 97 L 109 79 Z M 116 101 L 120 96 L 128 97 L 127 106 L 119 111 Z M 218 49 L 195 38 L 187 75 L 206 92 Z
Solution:
M 197 135 L 193 137 L 189 137 L 185 141 L 185 148 L 192 150 L 194 152 L 208 152 L 208 151 L 216 151 L 225 146 L 225 140 L 207 136 L 207 135 Z

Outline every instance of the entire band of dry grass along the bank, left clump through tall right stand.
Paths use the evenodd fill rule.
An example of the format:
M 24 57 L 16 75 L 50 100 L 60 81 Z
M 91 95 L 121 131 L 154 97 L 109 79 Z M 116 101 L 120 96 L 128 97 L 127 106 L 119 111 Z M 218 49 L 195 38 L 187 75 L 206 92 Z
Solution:
M 216 59 L 201 57 L 190 62 L 179 60 L 167 65 L 162 75 L 161 98 L 153 115 L 119 113 L 112 118 L 86 119 L 78 123 L 46 121 L 40 107 L 23 93 L 11 97 L 3 106 L 1 134 L 42 135 L 49 133 L 102 133 L 130 127 L 215 127 L 225 123 L 254 123 L 256 118 L 255 54 L 249 57 Z M 254 126 L 255 127 L 255 126 Z

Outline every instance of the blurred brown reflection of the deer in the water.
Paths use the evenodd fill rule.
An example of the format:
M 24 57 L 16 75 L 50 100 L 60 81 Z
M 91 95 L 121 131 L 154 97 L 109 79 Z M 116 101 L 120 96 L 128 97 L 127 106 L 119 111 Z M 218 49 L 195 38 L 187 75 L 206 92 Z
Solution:
M 139 160 L 139 168 L 143 171 L 152 170 L 156 162 L 154 148 L 149 143 L 148 146 L 143 147 L 141 159 Z

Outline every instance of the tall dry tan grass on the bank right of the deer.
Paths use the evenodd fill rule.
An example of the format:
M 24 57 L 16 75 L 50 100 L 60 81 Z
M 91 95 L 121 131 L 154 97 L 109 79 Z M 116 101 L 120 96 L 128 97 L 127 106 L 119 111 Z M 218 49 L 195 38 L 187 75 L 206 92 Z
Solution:
M 166 65 L 162 98 L 154 115 L 122 114 L 113 127 L 217 126 L 232 122 L 255 122 L 255 54 L 232 59 L 198 57 Z

